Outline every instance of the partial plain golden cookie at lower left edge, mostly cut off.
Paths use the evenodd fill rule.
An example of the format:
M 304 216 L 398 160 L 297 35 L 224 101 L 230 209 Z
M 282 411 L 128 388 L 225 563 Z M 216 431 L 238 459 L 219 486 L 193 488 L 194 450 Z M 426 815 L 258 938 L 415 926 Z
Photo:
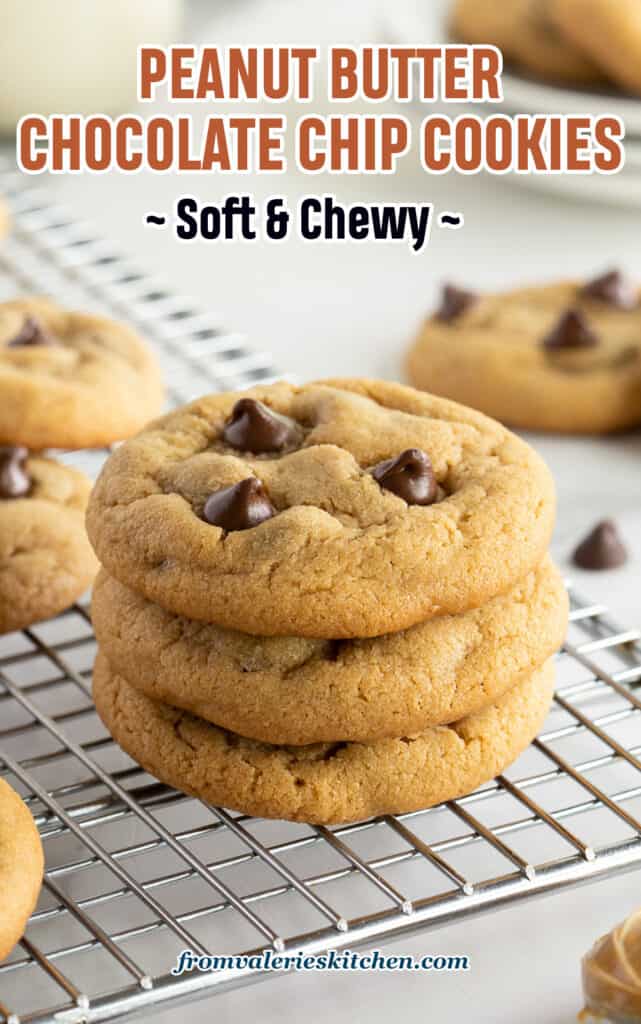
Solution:
M 25 934 L 42 887 L 42 843 L 27 806 L 0 778 L 0 962 Z

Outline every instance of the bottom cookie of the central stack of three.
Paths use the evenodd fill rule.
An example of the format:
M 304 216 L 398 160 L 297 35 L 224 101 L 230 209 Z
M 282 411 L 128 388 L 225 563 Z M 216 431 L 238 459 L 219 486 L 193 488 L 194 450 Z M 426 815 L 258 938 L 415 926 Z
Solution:
M 548 663 L 496 703 L 454 725 L 372 743 L 274 746 L 151 700 L 96 660 L 98 714 L 145 771 L 211 804 L 264 818 L 334 824 L 453 800 L 503 771 L 543 724 Z

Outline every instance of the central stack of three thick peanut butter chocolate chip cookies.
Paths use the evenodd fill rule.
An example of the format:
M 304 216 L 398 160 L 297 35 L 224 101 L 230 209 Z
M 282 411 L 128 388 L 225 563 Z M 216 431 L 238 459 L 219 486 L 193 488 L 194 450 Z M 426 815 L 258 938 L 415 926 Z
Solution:
M 202 398 L 90 500 L 98 712 L 153 775 L 249 814 L 458 797 L 547 714 L 553 521 L 535 452 L 454 402 L 360 380 Z

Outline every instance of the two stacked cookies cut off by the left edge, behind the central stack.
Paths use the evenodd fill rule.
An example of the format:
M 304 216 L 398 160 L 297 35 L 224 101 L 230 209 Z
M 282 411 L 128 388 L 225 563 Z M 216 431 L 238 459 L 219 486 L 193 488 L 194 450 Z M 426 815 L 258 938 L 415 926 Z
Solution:
M 90 481 L 38 453 L 127 437 L 162 400 L 156 364 L 123 325 L 45 299 L 0 304 L 0 633 L 62 611 L 97 569 Z

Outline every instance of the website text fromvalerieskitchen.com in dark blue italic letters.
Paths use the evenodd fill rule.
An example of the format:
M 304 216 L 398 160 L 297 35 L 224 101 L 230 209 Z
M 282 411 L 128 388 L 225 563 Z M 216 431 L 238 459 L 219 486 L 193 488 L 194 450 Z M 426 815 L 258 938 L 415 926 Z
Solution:
M 378 949 L 354 953 L 349 949 L 331 949 L 324 953 L 260 953 L 239 956 L 202 956 L 191 949 L 178 954 L 173 975 L 191 971 L 469 971 L 466 955 L 410 956 L 387 955 Z

